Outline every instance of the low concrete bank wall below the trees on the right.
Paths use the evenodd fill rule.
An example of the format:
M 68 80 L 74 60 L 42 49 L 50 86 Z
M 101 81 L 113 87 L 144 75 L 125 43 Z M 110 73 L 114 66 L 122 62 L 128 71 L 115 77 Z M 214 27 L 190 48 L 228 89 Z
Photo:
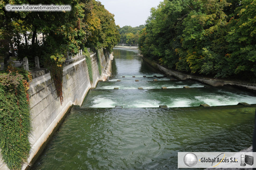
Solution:
M 245 88 L 245 89 L 248 89 L 248 90 L 256 91 L 256 84 L 248 84 L 248 83 L 243 83 L 243 82 L 233 82 L 233 81 L 228 81 L 228 80 L 203 78 L 203 77 L 198 77 L 198 76 L 194 76 L 194 75 L 190 75 L 190 74 L 184 74 L 184 73 L 180 73 L 180 72 L 175 71 L 175 70 L 165 68 L 165 67 L 161 66 L 160 64 L 158 64 L 156 62 L 153 62 L 152 60 L 150 60 L 148 58 L 145 58 L 144 56 L 142 57 L 142 59 L 145 62 L 147 62 L 148 64 L 150 64 L 152 67 L 154 67 L 156 69 L 159 69 L 160 71 L 162 71 L 166 75 L 172 75 L 172 76 L 174 76 L 174 77 L 176 77 L 177 79 L 180 79 L 180 80 L 193 79 L 193 80 L 202 82 L 204 84 L 209 84 L 211 86 L 224 86 L 225 84 L 230 84 L 232 86 L 237 86 L 237 87 L 240 87 L 240 88 Z

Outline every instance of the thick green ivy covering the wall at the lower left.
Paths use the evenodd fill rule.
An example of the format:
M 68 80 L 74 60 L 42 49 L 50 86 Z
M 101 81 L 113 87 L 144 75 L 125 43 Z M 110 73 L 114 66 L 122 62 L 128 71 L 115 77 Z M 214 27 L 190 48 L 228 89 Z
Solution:
M 10 169 L 21 169 L 30 151 L 30 80 L 28 72 L 11 67 L 0 74 L 0 148 Z

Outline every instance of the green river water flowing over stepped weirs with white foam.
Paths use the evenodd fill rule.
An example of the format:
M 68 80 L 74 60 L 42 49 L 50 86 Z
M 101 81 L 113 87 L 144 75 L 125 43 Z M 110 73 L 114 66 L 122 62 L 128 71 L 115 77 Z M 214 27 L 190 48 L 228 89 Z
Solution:
M 115 48 L 112 78 L 71 109 L 32 169 L 178 169 L 178 152 L 236 152 L 252 145 L 256 105 L 236 104 L 256 103 L 254 93 L 163 76 L 136 50 Z M 202 103 L 214 107 L 190 107 Z M 117 105 L 124 108 L 111 108 Z

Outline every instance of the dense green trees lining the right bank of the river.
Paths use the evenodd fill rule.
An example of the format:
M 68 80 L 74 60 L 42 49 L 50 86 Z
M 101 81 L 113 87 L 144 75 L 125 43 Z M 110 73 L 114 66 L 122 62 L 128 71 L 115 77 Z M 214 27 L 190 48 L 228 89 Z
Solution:
M 255 79 L 255 0 L 171 0 L 139 35 L 145 57 L 187 73 Z

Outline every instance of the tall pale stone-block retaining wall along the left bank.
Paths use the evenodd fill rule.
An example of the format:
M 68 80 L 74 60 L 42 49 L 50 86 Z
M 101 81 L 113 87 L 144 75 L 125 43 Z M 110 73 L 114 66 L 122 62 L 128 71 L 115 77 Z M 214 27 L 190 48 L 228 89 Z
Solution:
M 99 50 L 102 74 L 99 74 L 97 55 L 91 53 L 93 82 L 90 83 L 85 56 L 79 56 L 65 62 L 63 68 L 63 103 L 60 104 L 50 73 L 40 70 L 32 73 L 29 98 L 31 107 L 32 130 L 29 136 L 31 150 L 22 170 L 28 169 L 43 151 L 48 139 L 64 119 L 73 105 L 82 105 L 90 89 L 94 89 L 99 80 L 106 81 L 111 75 L 112 54 Z M 105 56 L 106 55 L 106 56 Z M 0 169 L 9 170 L 0 155 Z

